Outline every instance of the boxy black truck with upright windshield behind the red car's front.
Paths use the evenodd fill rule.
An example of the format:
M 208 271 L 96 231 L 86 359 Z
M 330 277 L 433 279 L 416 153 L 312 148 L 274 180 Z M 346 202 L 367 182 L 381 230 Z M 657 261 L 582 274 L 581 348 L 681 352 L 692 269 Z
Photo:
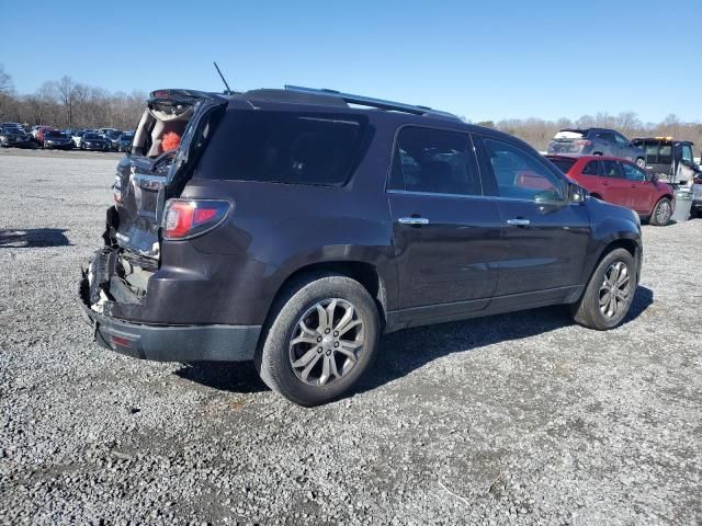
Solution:
M 692 180 L 701 173 L 694 162 L 693 145 L 689 140 L 641 137 L 632 140 L 632 144 L 646 152 L 646 167 L 673 185 L 692 184 Z

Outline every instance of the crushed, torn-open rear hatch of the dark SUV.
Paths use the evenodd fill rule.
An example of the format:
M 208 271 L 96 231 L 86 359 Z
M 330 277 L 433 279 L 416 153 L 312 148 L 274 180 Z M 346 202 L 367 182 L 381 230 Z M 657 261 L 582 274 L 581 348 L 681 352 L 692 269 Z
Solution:
M 117 165 L 104 247 L 83 272 L 80 295 L 93 311 L 140 318 L 149 279 L 160 267 L 166 202 L 192 176 L 227 103 L 225 96 L 189 90 L 151 93 L 131 151 Z

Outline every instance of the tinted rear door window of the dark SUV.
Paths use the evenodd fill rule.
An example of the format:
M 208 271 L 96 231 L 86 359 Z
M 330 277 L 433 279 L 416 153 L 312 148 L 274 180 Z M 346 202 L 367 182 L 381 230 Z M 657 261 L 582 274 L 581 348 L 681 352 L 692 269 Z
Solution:
M 434 194 L 482 194 L 467 134 L 406 127 L 398 135 L 390 187 Z

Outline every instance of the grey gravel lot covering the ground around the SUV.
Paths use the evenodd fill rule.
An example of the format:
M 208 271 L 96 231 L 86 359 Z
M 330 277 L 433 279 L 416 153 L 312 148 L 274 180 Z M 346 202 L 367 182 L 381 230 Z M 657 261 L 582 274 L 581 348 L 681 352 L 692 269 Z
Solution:
M 627 322 L 385 338 L 353 397 L 92 344 L 79 267 L 116 156 L 0 152 L 0 524 L 700 524 L 702 220 L 645 227 Z

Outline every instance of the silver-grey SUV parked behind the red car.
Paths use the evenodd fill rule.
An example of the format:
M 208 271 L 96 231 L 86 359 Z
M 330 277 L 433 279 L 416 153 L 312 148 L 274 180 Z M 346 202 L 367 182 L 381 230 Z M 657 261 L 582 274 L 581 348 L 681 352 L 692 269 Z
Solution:
M 619 132 L 607 128 L 562 129 L 548 142 L 548 153 L 610 156 L 629 159 L 642 168 L 646 165 L 644 149 L 633 146 Z

